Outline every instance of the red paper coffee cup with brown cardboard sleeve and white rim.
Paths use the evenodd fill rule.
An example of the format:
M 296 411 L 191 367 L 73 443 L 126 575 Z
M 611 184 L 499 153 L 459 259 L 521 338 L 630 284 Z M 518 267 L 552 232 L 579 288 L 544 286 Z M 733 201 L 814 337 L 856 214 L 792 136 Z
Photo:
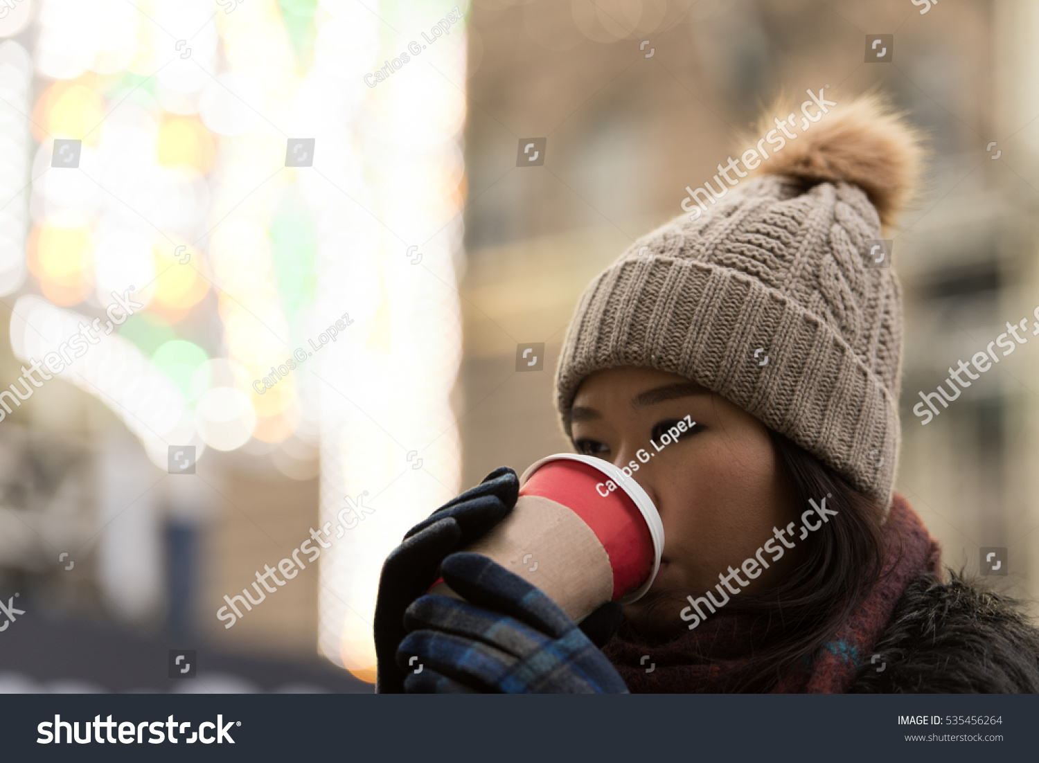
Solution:
M 464 550 L 536 585 L 577 622 L 608 601 L 641 598 L 663 548 L 660 515 L 635 480 L 603 459 L 556 454 L 524 472 L 512 512 Z M 430 593 L 453 595 L 443 582 Z

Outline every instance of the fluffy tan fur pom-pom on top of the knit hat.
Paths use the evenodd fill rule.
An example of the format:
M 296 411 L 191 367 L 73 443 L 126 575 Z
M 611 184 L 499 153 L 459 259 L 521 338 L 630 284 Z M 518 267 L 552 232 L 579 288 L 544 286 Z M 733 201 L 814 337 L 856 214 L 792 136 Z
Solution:
M 809 113 L 815 112 L 819 109 L 812 105 Z M 788 129 L 797 137 L 770 152 L 757 172 L 808 184 L 844 181 L 858 186 L 877 209 L 884 228 L 894 224 L 916 193 L 924 160 L 921 131 L 871 93 L 830 107 L 816 122 L 802 119 L 800 107 L 770 110 L 758 122 L 757 135 L 776 129 L 775 116 L 785 119 L 791 113 L 796 121 Z

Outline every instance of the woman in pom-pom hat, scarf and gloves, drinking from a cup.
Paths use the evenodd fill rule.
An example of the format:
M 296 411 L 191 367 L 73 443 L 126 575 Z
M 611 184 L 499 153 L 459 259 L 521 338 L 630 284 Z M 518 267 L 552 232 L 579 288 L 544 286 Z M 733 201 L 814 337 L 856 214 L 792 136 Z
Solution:
M 719 165 L 740 187 L 715 175 L 712 206 L 636 241 L 567 333 L 557 406 L 578 452 L 622 465 L 696 423 L 636 478 L 666 539 L 649 593 L 579 628 L 455 553 L 515 503 L 498 469 L 388 557 L 378 690 L 1039 690 L 1039 633 L 943 573 L 891 490 L 901 297 L 877 266 L 918 137 L 870 98 L 802 131 L 742 155 L 757 178 Z M 438 574 L 465 601 L 423 596 Z

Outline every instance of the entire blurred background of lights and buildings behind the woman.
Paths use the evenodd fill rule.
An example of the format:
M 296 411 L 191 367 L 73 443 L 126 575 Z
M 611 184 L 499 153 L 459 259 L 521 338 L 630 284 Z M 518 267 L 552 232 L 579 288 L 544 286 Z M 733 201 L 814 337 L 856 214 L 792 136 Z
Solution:
M 0 691 L 371 691 L 407 527 L 568 449 L 584 287 L 827 84 L 930 136 L 897 489 L 1039 614 L 1039 344 L 912 413 L 1039 306 L 1037 34 L 1025 0 L 0 3 Z

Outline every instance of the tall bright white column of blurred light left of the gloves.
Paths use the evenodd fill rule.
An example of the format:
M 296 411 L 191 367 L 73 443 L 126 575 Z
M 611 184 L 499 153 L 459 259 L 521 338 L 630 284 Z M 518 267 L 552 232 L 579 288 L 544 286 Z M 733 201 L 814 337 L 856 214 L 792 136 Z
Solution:
M 395 28 L 408 26 L 402 7 L 380 6 L 380 16 Z M 365 491 L 379 494 L 381 502 L 373 521 L 322 554 L 319 639 L 329 659 L 371 681 L 374 583 L 382 561 L 407 527 L 459 483 L 449 396 L 461 346 L 454 283 L 461 251 L 465 34 L 462 22 L 437 40 L 435 58 L 427 56 L 434 65 L 417 60 L 406 77 L 368 88 L 364 75 L 378 67 L 372 62 L 392 58 L 409 37 L 387 34 L 379 19 L 347 5 L 329 8 L 328 17 L 319 24 L 315 64 L 297 106 L 330 155 L 322 174 L 300 180 L 317 238 L 310 331 L 322 331 L 347 309 L 356 325 L 322 349 L 315 363 L 324 380 L 318 387 L 321 518 L 334 521 L 345 496 Z M 350 144 L 330 118 L 340 111 L 356 115 Z M 422 114 L 421 130 L 415 129 L 416 114 Z M 422 247 L 421 268 L 405 256 L 411 244 Z M 417 370 L 423 382 L 409 384 Z M 432 443 L 421 454 L 428 471 L 396 480 L 402 442 Z

